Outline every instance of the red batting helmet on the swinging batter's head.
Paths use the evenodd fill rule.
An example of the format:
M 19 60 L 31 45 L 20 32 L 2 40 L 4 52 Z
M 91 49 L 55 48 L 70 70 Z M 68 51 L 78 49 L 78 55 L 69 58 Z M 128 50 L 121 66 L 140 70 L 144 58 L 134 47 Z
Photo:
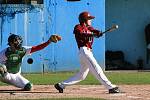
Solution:
M 94 16 L 91 16 L 89 12 L 84 11 L 82 13 L 79 14 L 79 22 L 85 22 L 86 20 L 90 20 L 90 19 L 94 19 Z

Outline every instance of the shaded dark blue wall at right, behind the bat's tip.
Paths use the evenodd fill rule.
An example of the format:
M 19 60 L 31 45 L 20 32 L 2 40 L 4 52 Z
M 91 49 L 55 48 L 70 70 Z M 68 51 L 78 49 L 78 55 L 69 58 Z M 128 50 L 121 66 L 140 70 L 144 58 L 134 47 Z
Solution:
M 137 59 L 146 64 L 144 28 L 150 23 L 149 0 L 106 0 L 106 27 L 118 24 L 119 29 L 106 35 L 106 50 L 125 53 L 125 60 L 132 64 Z

